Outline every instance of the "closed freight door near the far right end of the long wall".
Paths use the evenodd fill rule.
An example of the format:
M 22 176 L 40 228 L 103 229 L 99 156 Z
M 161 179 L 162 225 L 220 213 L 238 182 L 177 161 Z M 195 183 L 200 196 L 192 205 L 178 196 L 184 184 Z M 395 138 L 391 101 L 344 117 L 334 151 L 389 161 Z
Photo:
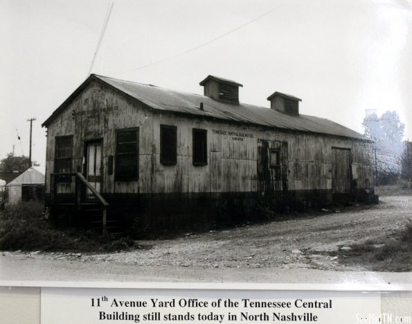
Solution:
M 351 180 L 350 149 L 332 148 L 332 194 L 348 194 Z

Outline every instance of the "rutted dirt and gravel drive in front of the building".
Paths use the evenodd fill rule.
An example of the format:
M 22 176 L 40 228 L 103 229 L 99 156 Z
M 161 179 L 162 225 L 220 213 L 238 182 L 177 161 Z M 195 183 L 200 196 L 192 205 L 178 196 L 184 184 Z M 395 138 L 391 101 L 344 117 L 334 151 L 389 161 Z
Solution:
M 334 251 L 373 239 L 382 242 L 411 218 L 412 196 L 382 197 L 379 205 L 358 205 L 271 223 L 244 224 L 230 230 L 187 233 L 177 239 L 138 241 L 139 248 L 118 253 L 2 253 L 20 260 L 69 261 L 79 267 L 143 266 L 187 271 L 274 269 L 368 271 L 367 264 L 349 265 Z M 213 272 L 212 272 L 213 273 Z M 246 272 L 247 273 L 247 272 Z M 150 275 L 150 274 L 149 274 Z

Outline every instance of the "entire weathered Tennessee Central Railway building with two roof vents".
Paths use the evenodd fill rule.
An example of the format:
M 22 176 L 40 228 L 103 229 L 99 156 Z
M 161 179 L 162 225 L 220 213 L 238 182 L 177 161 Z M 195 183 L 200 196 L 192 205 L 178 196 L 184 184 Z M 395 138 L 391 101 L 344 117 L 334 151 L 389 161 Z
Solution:
M 210 228 L 257 205 L 296 207 L 373 195 L 370 142 L 299 112 L 239 102 L 208 76 L 204 96 L 91 74 L 44 121 L 46 205 L 60 223 L 134 232 Z

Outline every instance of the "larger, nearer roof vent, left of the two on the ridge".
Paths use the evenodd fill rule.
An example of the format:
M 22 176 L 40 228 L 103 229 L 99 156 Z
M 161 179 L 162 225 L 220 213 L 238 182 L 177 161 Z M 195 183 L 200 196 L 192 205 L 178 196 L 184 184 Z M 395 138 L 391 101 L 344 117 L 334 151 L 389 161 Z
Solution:
M 239 87 L 243 87 L 240 83 L 217 76 L 208 76 L 199 85 L 204 86 L 205 96 L 229 103 L 239 103 Z

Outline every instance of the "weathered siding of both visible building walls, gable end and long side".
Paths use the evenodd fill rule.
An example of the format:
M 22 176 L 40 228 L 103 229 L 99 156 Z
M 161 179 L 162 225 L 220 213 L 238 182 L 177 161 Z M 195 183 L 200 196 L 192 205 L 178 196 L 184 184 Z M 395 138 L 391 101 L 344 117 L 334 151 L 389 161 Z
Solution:
M 161 125 L 177 126 L 177 164 L 172 166 L 160 162 Z M 116 130 L 136 127 L 139 129 L 139 180 L 114 181 L 114 173 L 108 175 L 107 166 L 109 156 L 116 156 Z M 193 128 L 208 131 L 208 164 L 205 166 L 192 164 Z M 48 193 L 55 137 L 64 135 L 73 135 L 73 171 L 82 171 L 84 141 L 102 139 L 104 194 L 256 192 L 258 139 L 287 142 L 289 190 L 332 189 L 332 147 L 350 148 L 352 176 L 357 179 L 358 188 L 368 189 L 368 179 L 371 179 L 370 147 L 366 142 L 152 112 L 95 82 L 48 126 Z

